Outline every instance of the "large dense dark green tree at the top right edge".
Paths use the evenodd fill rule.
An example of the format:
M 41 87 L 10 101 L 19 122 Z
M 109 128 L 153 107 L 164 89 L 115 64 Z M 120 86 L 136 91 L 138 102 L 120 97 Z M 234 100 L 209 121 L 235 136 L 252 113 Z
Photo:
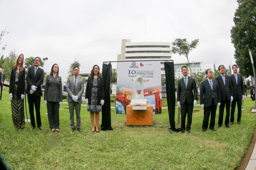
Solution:
M 235 47 L 235 59 L 239 67 L 239 73 L 244 77 L 253 75 L 253 68 L 249 55 L 249 49 L 256 62 L 256 1 L 255 0 L 237 0 L 238 9 L 236 9 L 232 26 L 231 42 Z

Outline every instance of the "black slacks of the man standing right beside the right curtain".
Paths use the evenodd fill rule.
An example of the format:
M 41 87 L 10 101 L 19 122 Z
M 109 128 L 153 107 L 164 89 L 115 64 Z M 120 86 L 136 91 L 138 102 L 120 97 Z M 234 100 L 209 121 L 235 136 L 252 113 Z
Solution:
M 180 105 L 180 114 L 181 114 L 181 130 L 185 130 L 186 116 L 187 116 L 187 130 L 190 130 L 192 123 L 192 113 L 193 113 L 194 104 L 188 104 L 187 99 L 184 104 Z

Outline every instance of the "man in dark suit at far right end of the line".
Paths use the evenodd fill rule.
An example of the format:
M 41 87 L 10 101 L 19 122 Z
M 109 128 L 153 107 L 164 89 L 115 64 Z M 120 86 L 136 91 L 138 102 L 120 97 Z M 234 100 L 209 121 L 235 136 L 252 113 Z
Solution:
M 242 75 L 237 73 L 237 65 L 232 66 L 232 70 L 234 74 L 232 74 L 231 82 L 232 82 L 232 88 L 234 93 L 234 99 L 231 103 L 231 115 L 230 115 L 230 125 L 233 124 L 233 121 L 235 120 L 234 114 L 235 114 L 235 106 L 237 103 L 237 124 L 241 123 L 241 116 L 242 116 L 242 100 L 244 100 L 244 82 Z

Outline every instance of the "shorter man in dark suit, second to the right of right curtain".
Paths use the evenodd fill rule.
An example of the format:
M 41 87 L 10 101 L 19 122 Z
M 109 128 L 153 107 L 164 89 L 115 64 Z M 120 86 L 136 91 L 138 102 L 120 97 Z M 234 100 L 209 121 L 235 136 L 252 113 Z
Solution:
M 204 121 L 202 124 L 202 132 L 205 132 L 208 128 L 209 117 L 211 114 L 210 129 L 216 131 L 214 128 L 216 109 L 220 107 L 220 89 L 218 81 L 213 80 L 213 72 L 211 69 L 206 70 L 207 79 L 201 83 L 200 88 L 200 106 L 204 107 Z

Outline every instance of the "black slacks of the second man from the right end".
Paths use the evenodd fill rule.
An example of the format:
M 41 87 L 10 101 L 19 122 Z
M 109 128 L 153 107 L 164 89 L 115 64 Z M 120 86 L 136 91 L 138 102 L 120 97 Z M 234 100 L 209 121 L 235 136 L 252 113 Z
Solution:
M 226 105 L 226 118 L 225 118 L 225 125 L 229 124 L 229 116 L 230 116 L 230 100 L 228 100 L 227 96 L 224 101 L 220 102 L 220 113 L 219 113 L 219 121 L 218 125 L 222 126 L 223 124 L 223 114 L 224 114 L 224 109 Z

